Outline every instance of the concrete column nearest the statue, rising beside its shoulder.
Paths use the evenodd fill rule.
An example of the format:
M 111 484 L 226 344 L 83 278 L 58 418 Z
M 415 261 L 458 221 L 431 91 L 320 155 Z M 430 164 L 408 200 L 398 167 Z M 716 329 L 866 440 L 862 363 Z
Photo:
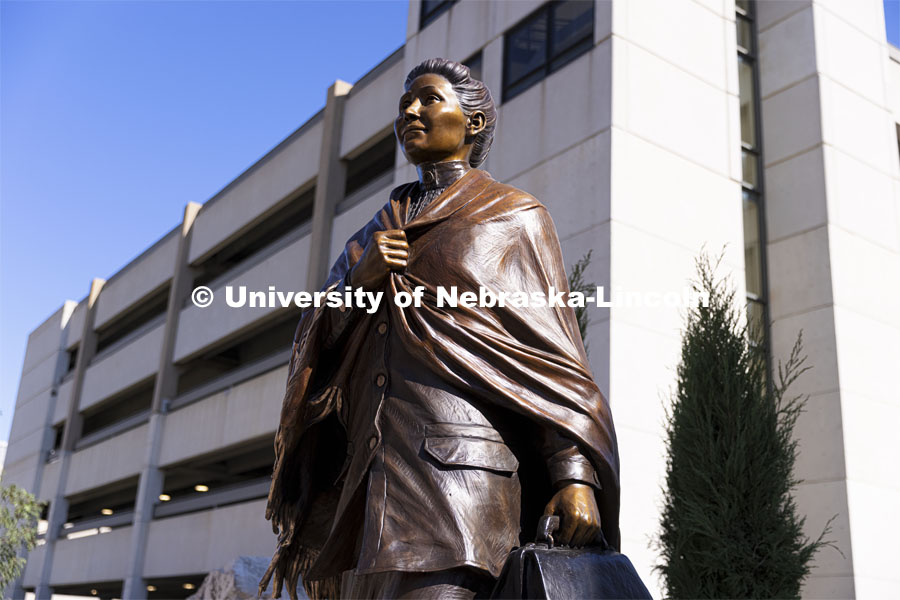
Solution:
M 340 79 L 328 88 L 325 115 L 322 119 L 322 146 L 319 174 L 313 204 L 312 232 L 309 244 L 309 270 L 306 288 L 318 290 L 328 277 L 331 229 L 334 211 L 344 198 L 346 167 L 341 161 L 341 131 L 344 123 L 344 101 L 353 86 Z

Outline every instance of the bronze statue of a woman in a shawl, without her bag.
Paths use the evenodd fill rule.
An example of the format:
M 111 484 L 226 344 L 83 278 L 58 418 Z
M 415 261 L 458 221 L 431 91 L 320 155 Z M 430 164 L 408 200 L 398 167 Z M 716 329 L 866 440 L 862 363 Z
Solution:
M 477 168 L 495 124 L 467 67 L 409 73 L 394 130 L 418 181 L 347 242 L 324 289 L 424 299 L 301 317 L 266 510 L 279 543 L 261 585 L 274 575 L 276 597 L 301 576 L 313 597 L 483 597 L 545 513 L 558 544 L 619 545 L 615 430 L 573 310 L 436 302 L 438 286 L 568 289 L 547 209 Z

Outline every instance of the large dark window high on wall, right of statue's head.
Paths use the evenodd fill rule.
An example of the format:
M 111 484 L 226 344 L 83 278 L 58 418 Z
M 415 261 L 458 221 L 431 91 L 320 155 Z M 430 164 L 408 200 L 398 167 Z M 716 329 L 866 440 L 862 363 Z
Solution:
M 594 44 L 592 0 L 549 2 L 504 39 L 503 101 L 561 69 Z

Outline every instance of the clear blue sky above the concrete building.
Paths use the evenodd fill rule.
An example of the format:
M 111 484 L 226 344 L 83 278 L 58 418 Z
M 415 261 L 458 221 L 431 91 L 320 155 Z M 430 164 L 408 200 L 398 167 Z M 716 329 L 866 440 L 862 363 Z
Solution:
M 0 2 L 0 440 L 30 331 L 403 43 L 406 0 Z M 900 0 L 885 2 L 900 45 Z

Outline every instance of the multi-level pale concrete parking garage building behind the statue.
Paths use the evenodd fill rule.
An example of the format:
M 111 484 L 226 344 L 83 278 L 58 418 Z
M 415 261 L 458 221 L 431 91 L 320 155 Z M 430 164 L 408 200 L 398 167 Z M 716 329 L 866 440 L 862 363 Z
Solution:
M 552 31 L 551 43 L 547 31 Z M 406 43 L 109 281 L 28 339 L 4 480 L 50 502 L 16 597 L 190 593 L 270 555 L 271 442 L 297 309 L 230 309 L 226 285 L 313 290 L 344 240 L 414 178 L 392 138 L 406 73 L 445 56 L 499 104 L 485 168 L 541 199 L 567 265 L 680 293 L 701 248 L 768 325 L 803 330 L 797 429 L 810 535 L 836 515 L 810 598 L 896 597 L 900 539 L 900 51 L 881 0 L 411 0 Z M 194 306 L 206 285 L 218 300 Z M 595 309 L 596 380 L 622 459 L 623 551 L 649 543 L 683 311 Z

